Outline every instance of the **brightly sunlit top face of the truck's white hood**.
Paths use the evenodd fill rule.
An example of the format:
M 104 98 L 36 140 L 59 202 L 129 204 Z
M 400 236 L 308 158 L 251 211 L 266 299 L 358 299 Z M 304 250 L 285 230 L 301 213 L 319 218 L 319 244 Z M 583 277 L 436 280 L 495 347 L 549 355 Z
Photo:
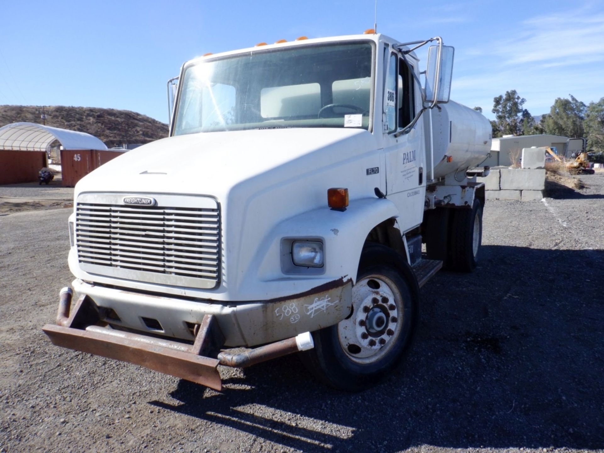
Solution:
M 220 199 L 239 182 L 364 134 L 370 135 L 359 129 L 268 129 L 164 138 L 94 170 L 77 184 L 76 195 L 82 191 L 160 191 Z

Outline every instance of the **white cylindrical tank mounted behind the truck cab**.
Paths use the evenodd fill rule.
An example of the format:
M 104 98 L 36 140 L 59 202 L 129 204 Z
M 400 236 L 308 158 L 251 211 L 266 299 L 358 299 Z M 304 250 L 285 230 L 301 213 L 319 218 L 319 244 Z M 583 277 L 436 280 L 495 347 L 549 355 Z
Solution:
M 425 130 L 429 131 L 432 114 L 434 143 L 434 179 L 448 173 L 472 169 L 481 164 L 490 152 L 492 129 L 483 114 L 469 107 L 449 101 L 425 113 Z M 426 135 L 426 153 L 429 155 L 429 136 Z M 448 158 L 451 159 L 448 159 Z M 429 158 L 428 158 L 429 159 Z M 451 160 L 451 162 L 448 162 Z

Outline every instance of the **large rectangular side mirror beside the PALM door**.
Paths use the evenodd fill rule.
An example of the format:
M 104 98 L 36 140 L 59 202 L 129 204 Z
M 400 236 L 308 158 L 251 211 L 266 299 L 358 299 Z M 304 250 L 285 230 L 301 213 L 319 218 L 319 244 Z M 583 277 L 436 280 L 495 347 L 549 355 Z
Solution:
M 452 46 L 430 46 L 428 48 L 428 67 L 426 68 L 426 102 L 433 105 L 449 102 L 453 59 L 455 48 Z

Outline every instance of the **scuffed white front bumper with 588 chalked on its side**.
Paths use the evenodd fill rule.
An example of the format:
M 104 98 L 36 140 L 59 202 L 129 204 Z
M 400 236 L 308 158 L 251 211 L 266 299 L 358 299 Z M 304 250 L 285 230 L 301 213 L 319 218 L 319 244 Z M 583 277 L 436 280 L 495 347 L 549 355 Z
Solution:
M 352 309 L 352 281 L 342 279 L 280 300 L 239 303 L 141 294 L 82 280 L 74 280 L 73 288 L 105 309 L 100 314 L 106 323 L 154 335 L 193 341 L 191 326 L 201 324 L 204 315 L 214 315 L 228 347 L 265 344 L 323 329 L 339 323 Z M 115 316 L 103 318 L 111 313 L 107 309 L 119 321 Z M 158 321 L 161 329 L 151 329 L 144 318 Z

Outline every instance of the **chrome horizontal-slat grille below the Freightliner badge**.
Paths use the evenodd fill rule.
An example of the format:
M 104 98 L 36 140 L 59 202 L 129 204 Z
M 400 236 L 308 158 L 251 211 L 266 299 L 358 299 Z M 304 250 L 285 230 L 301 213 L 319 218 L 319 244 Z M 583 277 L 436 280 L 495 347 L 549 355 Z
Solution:
M 115 198 L 111 196 L 111 201 Z M 216 202 L 216 208 L 200 208 L 165 207 L 159 201 L 158 197 L 158 206 L 78 201 L 76 246 L 82 269 L 153 283 L 217 286 L 220 215 Z

